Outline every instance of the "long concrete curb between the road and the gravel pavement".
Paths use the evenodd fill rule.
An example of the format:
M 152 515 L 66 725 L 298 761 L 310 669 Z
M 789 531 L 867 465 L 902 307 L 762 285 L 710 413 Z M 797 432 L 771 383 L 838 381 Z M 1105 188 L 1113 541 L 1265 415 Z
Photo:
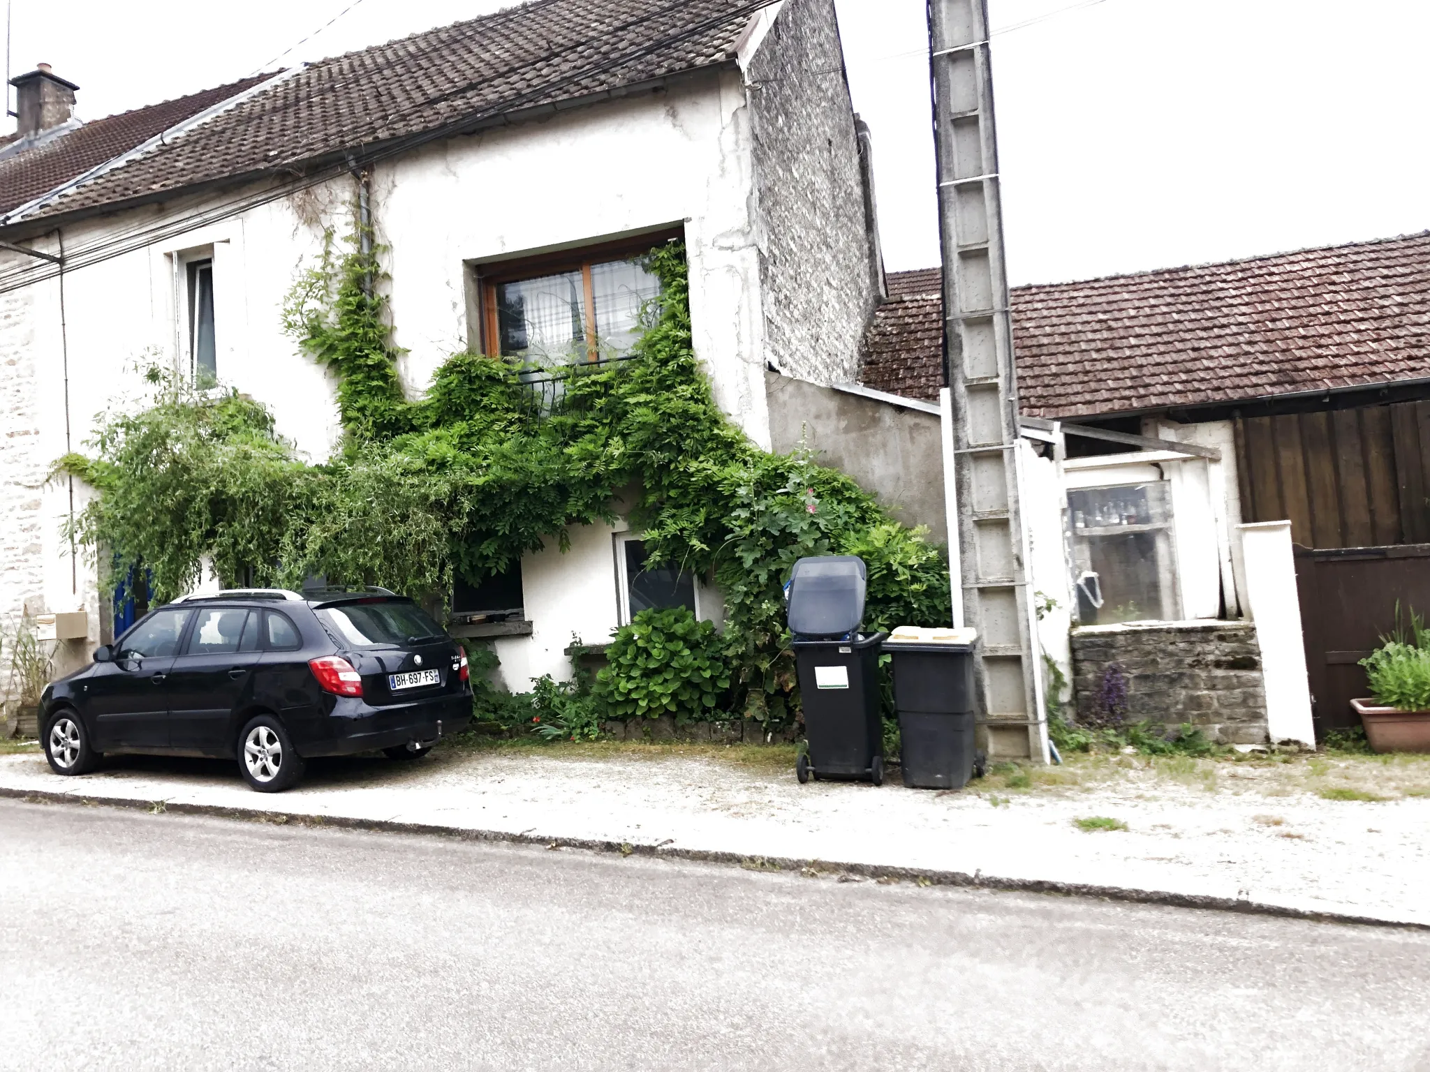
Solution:
M 509 833 L 506 830 L 479 830 L 465 826 L 439 826 L 436 823 L 403 823 L 390 819 L 352 819 L 346 816 L 290 815 L 263 808 L 223 808 L 219 805 L 170 803 L 167 800 L 139 800 L 127 796 L 89 796 L 80 793 L 57 793 L 43 789 L 11 789 L 0 786 L 0 798 L 23 803 L 74 803 L 103 808 L 129 808 L 150 810 L 156 805 L 163 813 L 206 815 L 217 819 L 245 822 L 296 823 L 299 826 L 323 826 L 343 830 L 368 830 L 372 833 L 416 833 L 436 838 L 452 838 L 470 842 L 508 842 L 513 845 L 539 845 L 548 849 L 583 849 L 608 852 L 621 856 L 651 856 L 661 859 L 692 860 L 699 863 L 738 865 L 749 870 L 792 870 L 818 875 L 858 875 L 869 879 L 897 879 L 917 882 L 925 886 L 965 886 L 1010 893 L 1048 893 L 1068 898 L 1097 898 L 1101 900 L 1124 900 L 1138 905 L 1167 905 L 1170 908 L 1195 908 L 1214 912 L 1241 912 L 1248 915 L 1277 916 L 1281 919 L 1306 919 L 1316 923 L 1354 923 L 1357 926 L 1387 926 L 1406 930 L 1430 930 L 1430 923 L 1416 923 L 1377 916 L 1353 916 L 1343 912 L 1313 912 L 1310 909 L 1268 905 L 1260 900 L 1214 898 L 1197 893 L 1173 893 L 1157 889 L 1131 889 L 1127 886 L 1100 886 L 1083 882 L 1054 882 L 1050 879 L 1010 879 L 995 875 L 961 870 L 928 870 L 924 868 L 898 868 L 881 863 L 844 863 L 839 860 L 791 859 L 785 856 L 742 856 L 735 852 L 714 849 L 682 849 L 666 845 L 638 845 L 633 842 L 611 842 L 592 838 L 553 838 L 533 833 Z

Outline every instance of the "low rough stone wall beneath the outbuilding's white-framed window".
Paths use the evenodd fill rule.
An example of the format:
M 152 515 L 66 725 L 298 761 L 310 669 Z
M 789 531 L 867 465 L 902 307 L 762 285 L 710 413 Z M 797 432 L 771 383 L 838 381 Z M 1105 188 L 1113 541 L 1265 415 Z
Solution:
M 1074 629 L 1077 720 L 1098 718 L 1107 669 L 1127 678 L 1127 720 L 1198 726 L 1223 745 L 1263 745 L 1266 692 L 1251 622 L 1157 622 Z

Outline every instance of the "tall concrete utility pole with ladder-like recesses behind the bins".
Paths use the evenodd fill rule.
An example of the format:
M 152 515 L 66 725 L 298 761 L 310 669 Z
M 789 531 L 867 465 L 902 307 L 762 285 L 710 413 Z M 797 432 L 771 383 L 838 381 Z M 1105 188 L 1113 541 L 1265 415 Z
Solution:
M 957 512 L 958 530 L 950 553 L 954 625 L 978 630 L 974 676 L 988 755 L 1048 762 L 1020 509 L 987 0 L 928 0 L 928 34 L 944 260 L 944 419 L 952 426 L 957 510 L 950 513 Z

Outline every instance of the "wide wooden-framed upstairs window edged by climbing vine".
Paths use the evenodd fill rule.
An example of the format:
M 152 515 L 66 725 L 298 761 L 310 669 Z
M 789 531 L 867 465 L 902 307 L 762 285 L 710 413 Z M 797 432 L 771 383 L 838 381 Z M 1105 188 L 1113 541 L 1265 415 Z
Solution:
M 641 314 L 661 282 L 639 256 L 669 236 L 573 250 L 482 270 L 488 353 L 533 364 L 598 360 L 629 353 Z

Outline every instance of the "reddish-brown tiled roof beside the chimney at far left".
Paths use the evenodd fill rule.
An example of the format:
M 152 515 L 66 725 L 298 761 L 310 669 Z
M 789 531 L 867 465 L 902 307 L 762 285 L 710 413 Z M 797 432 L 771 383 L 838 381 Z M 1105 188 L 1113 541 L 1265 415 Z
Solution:
M 60 183 L 84 174 L 106 160 L 113 160 L 120 153 L 127 153 L 174 123 L 182 123 L 266 77 L 270 76 L 260 74 L 177 100 L 166 100 L 162 104 L 96 119 L 34 149 L 0 160 L 0 213 L 10 212 Z M 0 146 L 13 142 L 14 137 L 0 137 Z

